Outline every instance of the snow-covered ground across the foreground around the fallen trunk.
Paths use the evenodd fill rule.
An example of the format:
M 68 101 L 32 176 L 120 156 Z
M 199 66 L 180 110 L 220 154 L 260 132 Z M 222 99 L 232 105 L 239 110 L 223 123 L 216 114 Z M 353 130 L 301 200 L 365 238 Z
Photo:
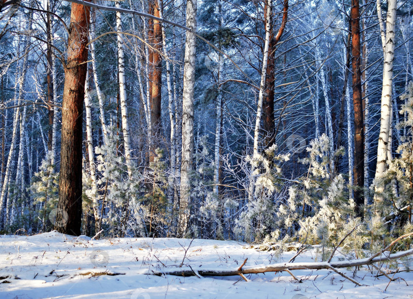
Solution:
M 57 232 L 34 236 L 0 236 L 0 298 L 413 298 L 413 273 L 400 272 L 390 282 L 367 270 L 357 271 L 355 286 L 330 270 L 232 277 L 162 277 L 146 275 L 180 264 L 194 269 L 238 267 L 289 261 L 244 248 L 236 241 L 176 238 L 91 240 Z M 188 250 L 187 250 L 188 249 Z M 184 259 L 185 251 L 186 258 Z M 316 261 L 315 250 L 296 259 Z M 354 269 L 341 269 L 353 277 Z M 102 275 L 104 274 L 104 275 Z M 118 275 L 107 275 L 118 274 Z M 391 275 L 393 276 L 393 274 Z M 386 289 L 387 287 L 387 289 Z M 385 290 L 386 289 L 386 290 Z

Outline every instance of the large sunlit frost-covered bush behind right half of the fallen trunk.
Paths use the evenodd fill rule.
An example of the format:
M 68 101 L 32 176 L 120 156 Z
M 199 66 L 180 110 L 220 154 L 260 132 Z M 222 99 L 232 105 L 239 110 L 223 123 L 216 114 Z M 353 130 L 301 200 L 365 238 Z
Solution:
M 342 154 L 342 149 L 330 153 L 330 140 L 323 134 L 307 147 L 308 157 L 301 160 L 308 165 L 307 176 L 289 188 L 289 198 L 279 205 L 277 216 L 280 227 L 300 242 L 320 244 L 325 260 L 337 244 L 360 222 L 354 218 L 354 201 L 342 174 L 333 173 L 331 160 Z M 341 245 L 349 251 L 360 252 L 365 229 L 358 226 Z

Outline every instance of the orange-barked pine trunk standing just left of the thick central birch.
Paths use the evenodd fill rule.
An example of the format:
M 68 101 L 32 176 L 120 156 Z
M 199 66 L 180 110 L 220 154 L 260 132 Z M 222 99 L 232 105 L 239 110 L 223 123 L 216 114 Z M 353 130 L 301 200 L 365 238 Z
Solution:
M 150 1 L 149 14 L 160 17 L 158 0 Z M 149 20 L 149 43 L 155 49 L 149 48 L 149 97 L 152 134 L 149 161 L 153 161 L 154 150 L 159 146 L 158 140 L 161 133 L 162 27 L 158 20 Z

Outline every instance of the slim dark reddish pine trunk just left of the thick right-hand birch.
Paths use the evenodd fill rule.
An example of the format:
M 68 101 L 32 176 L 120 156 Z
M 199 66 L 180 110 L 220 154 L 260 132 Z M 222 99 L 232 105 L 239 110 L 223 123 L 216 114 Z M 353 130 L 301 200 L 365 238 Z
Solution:
M 364 122 L 362 99 L 362 69 L 360 57 L 360 15 L 359 0 L 351 0 L 351 44 L 352 44 L 352 68 L 353 68 L 353 105 L 354 105 L 354 201 L 356 213 L 363 217 L 364 204 Z

